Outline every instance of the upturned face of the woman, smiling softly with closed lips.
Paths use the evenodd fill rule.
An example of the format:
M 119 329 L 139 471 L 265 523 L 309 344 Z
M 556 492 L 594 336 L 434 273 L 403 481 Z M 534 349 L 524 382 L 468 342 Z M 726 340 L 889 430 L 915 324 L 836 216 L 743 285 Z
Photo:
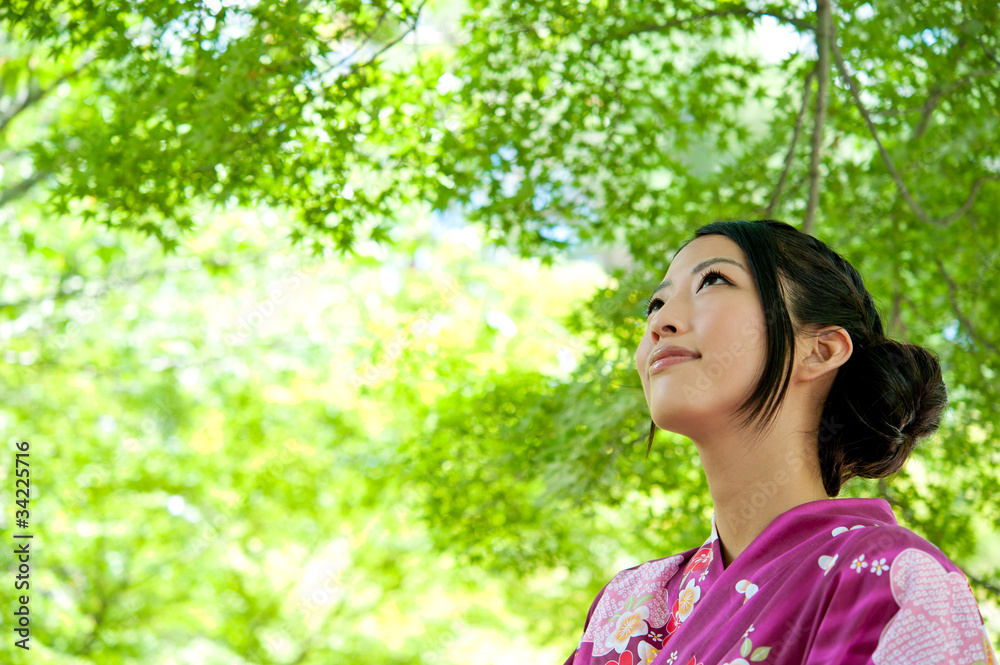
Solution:
M 698 441 L 715 428 L 732 427 L 737 407 L 759 380 L 766 345 L 763 307 L 743 251 L 725 236 L 692 240 L 664 280 L 671 283 L 650 301 L 636 369 L 656 426 Z M 696 356 L 651 373 L 650 354 L 666 346 Z

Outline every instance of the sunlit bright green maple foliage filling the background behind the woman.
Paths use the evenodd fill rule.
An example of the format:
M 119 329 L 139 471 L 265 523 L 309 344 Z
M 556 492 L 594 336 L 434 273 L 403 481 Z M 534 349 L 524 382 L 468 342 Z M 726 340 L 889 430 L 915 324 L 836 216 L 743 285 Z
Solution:
M 644 457 L 643 298 L 694 228 L 796 223 L 810 186 L 950 395 L 904 473 L 845 494 L 1000 634 L 996 4 L 836 3 L 814 173 L 798 3 L 458 9 L 420 49 L 454 7 L 0 9 L 31 662 L 561 661 L 615 571 L 711 516 L 686 440 Z M 627 261 L 570 261 L 593 242 Z

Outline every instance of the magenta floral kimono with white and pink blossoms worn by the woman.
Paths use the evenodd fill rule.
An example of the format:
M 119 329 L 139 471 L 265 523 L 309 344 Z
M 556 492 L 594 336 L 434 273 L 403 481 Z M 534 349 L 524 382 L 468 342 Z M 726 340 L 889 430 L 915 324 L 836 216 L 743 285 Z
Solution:
M 566 665 L 997 665 L 969 583 L 882 499 L 778 516 L 728 568 L 700 548 L 615 575 Z

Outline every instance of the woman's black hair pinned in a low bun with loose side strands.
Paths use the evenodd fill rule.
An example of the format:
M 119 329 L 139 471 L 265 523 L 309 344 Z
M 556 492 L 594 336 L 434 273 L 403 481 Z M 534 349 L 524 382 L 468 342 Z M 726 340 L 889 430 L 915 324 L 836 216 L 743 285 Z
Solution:
M 820 418 L 823 486 L 828 496 L 837 496 L 855 476 L 883 478 L 899 471 L 917 441 L 937 431 L 948 403 L 937 356 L 886 338 L 861 275 L 820 240 L 770 219 L 713 222 L 677 251 L 706 235 L 723 235 L 739 245 L 764 307 L 764 372 L 737 409 L 746 414 L 743 425 L 756 420 L 754 431 L 760 432 L 784 399 L 794 362 L 792 320 L 803 327 L 841 327 L 850 333 L 854 351 L 836 370 Z M 651 422 L 647 454 L 655 433 Z

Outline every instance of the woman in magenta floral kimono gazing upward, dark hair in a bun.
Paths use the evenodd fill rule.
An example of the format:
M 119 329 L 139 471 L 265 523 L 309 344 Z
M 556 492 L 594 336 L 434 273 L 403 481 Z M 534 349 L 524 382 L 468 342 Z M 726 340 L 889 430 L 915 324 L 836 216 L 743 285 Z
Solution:
M 711 535 L 618 573 L 566 665 L 997 663 L 954 563 L 882 499 L 830 498 L 898 471 L 947 404 L 843 258 L 782 222 L 704 226 L 635 360 L 650 446 L 660 427 L 698 450 Z

